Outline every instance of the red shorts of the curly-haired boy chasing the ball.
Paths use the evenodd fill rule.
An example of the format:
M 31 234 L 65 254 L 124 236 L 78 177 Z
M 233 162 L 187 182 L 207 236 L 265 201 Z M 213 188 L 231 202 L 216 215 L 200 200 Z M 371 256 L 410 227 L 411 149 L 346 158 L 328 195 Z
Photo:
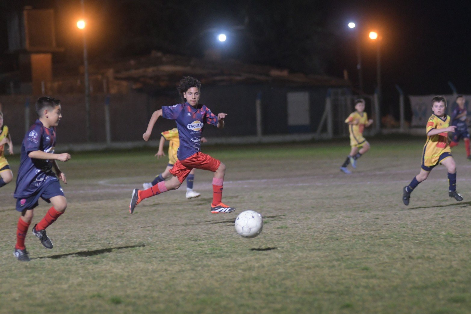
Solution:
M 183 183 L 193 168 L 216 172 L 220 164 L 218 159 L 199 151 L 186 159 L 177 160 L 173 168 L 170 169 L 170 173 L 177 176 L 179 182 Z

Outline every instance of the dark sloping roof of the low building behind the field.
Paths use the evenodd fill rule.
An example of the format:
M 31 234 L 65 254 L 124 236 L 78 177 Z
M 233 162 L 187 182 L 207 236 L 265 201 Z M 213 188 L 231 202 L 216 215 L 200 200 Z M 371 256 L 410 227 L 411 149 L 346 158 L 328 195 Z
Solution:
M 333 76 L 290 73 L 287 69 L 245 64 L 233 59 L 208 60 L 161 52 L 99 67 L 102 70 L 112 68 L 116 80 L 160 88 L 173 88 L 186 75 L 197 77 L 205 85 L 350 86 L 349 81 Z

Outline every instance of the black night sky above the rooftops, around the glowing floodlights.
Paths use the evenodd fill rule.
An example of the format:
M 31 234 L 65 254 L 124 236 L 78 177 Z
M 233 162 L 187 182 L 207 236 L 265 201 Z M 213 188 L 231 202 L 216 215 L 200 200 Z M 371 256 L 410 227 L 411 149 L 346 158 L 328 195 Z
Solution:
M 11 3 L 14 2 L 14 3 Z M 456 3 L 453 3 L 456 2 Z M 246 62 L 287 67 L 305 73 L 343 76 L 357 86 L 356 38 L 347 27 L 354 21 L 362 38 L 364 86 L 376 85 L 376 49 L 367 38 L 382 34 L 383 113 L 398 116 L 398 84 L 407 94 L 471 93 L 470 1 L 319 1 L 319 0 L 85 0 L 90 12 L 90 58 L 123 58 L 151 50 L 201 56 L 215 45 L 205 29 L 245 25 L 232 33 L 223 56 Z M 57 41 L 65 52 L 56 63 L 82 62 L 75 22 L 79 0 L 2 1 L 0 44 L 7 47 L 6 12 L 32 5 L 55 8 Z M 214 48 L 214 46 L 212 47 Z M 0 71 L 14 70 L 12 56 L 2 54 Z

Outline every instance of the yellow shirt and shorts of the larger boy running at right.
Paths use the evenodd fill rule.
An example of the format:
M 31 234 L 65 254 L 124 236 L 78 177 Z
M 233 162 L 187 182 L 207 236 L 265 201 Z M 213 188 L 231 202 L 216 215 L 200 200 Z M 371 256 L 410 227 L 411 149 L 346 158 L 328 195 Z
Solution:
M 433 129 L 445 129 L 450 125 L 450 116 L 431 115 L 427 122 L 426 133 Z M 451 153 L 448 140 L 448 132 L 427 136 L 427 141 L 423 147 L 422 164 L 426 166 L 436 165 L 439 157 L 443 153 Z

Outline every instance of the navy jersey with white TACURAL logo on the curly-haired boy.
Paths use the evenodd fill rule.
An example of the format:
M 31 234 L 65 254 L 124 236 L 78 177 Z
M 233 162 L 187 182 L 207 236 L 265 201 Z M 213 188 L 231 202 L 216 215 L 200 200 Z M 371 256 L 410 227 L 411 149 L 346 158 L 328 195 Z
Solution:
M 187 102 L 174 106 L 162 106 L 162 116 L 177 122 L 180 139 L 177 152 L 179 160 L 200 151 L 201 133 L 205 123 L 218 125 L 218 117 L 208 107 L 198 105 L 194 108 Z

